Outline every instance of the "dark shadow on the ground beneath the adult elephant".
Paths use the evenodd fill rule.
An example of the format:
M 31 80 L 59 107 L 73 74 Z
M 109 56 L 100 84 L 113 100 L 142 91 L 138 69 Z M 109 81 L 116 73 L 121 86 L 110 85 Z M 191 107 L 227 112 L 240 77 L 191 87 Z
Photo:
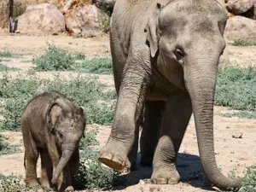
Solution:
M 114 189 L 125 189 L 128 186 L 135 185 L 143 179 L 149 179 L 152 174 L 152 167 L 143 167 L 139 164 L 140 154 L 137 158 L 137 170 L 127 175 L 121 175 L 118 178 L 117 186 Z M 207 190 L 212 189 L 208 179 L 201 166 L 199 156 L 194 154 L 178 154 L 177 172 L 179 172 L 182 183 Z

